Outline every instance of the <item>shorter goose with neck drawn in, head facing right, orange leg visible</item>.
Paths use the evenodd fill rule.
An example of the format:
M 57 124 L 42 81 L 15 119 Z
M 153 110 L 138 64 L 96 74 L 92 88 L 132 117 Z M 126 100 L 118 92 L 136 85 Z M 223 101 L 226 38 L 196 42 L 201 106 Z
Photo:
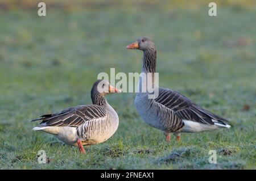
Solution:
M 83 145 L 100 144 L 117 131 L 118 115 L 104 97 L 113 92 L 121 90 L 111 86 L 108 81 L 97 80 L 90 92 L 93 104 L 43 115 L 32 120 L 42 121 L 33 130 L 53 134 L 67 145 L 79 146 L 80 153 L 85 154 Z

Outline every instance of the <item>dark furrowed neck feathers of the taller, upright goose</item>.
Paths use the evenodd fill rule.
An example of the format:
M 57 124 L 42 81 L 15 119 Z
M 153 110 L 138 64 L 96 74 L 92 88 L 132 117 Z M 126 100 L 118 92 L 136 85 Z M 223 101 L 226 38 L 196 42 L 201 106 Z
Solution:
M 145 73 L 155 73 L 156 49 L 144 50 L 142 71 Z

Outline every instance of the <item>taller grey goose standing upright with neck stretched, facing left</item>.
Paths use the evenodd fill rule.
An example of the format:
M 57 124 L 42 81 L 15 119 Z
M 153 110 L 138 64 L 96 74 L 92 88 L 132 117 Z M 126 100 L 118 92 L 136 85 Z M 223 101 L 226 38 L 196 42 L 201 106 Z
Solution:
M 230 128 L 228 120 L 201 108 L 177 91 L 158 87 L 154 81 L 156 70 L 156 47 L 150 37 L 140 37 L 134 43 L 127 45 L 127 49 L 143 51 L 142 73 L 138 87 L 148 84 L 158 89 L 158 96 L 149 99 L 150 91 L 137 90 L 135 107 L 142 119 L 152 127 L 164 131 L 166 141 L 170 141 L 171 133 L 177 140 L 181 139 L 181 132 L 196 133 L 212 131 L 219 128 Z M 146 81 L 142 74 L 151 74 L 151 82 Z M 140 89 L 141 90 L 141 89 Z

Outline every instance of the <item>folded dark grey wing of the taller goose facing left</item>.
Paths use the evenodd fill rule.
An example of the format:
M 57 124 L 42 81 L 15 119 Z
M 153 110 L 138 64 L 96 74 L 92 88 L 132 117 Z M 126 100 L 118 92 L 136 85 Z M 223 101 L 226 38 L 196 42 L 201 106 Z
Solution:
M 224 121 L 228 122 L 228 120 L 204 110 L 190 99 L 174 90 L 159 88 L 159 95 L 155 101 L 174 111 L 175 114 L 183 120 L 208 125 L 213 125 L 214 123 L 225 125 Z

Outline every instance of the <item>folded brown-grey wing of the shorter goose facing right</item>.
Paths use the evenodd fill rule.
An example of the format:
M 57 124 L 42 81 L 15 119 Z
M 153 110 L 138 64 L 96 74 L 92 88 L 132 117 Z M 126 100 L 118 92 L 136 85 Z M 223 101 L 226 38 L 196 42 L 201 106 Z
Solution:
M 42 120 L 40 125 L 50 127 L 79 127 L 86 121 L 100 119 L 106 116 L 106 111 L 97 105 L 82 105 L 71 107 L 59 113 L 43 115 L 38 119 Z

